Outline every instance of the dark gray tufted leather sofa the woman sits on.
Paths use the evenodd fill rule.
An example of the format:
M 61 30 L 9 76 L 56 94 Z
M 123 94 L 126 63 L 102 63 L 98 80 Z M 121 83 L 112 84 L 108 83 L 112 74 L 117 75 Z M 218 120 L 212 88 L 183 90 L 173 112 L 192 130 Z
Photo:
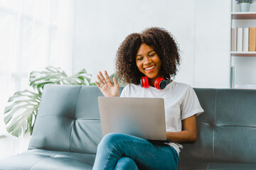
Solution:
M 256 90 L 195 91 L 205 113 L 178 169 L 256 169 Z M 96 86 L 46 85 L 28 151 L 1 159 L 0 169 L 92 169 L 102 138 L 98 96 Z

